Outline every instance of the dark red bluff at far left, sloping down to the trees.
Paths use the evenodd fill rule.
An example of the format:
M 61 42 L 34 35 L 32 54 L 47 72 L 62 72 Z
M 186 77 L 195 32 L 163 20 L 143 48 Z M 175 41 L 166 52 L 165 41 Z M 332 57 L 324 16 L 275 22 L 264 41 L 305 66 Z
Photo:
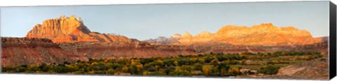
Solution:
M 1 38 L 1 66 L 61 64 L 77 60 L 88 58 L 62 50 L 46 38 Z

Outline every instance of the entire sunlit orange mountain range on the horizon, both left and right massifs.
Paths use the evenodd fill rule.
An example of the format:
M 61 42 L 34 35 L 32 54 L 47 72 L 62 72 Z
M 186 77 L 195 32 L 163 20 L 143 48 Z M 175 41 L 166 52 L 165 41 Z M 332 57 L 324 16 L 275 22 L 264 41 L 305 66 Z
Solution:
M 137 39 L 117 34 L 100 34 L 90 31 L 81 17 L 65 17 L 45 20 L 28 32 L 27 38 L 49 38 L 54 43 L 75 42 L 131 42 Z M 253 27 L 227 25 L 216 33 L 204 31 L 192 36 L 174 34 L 166 38 L 144 40 L 151 44 L 193 45 L 227 43 L 232 45 L 305 45 L 322 42 L 322 38 L 313 38 L 309 31 L 295 27 L 276 27 L 272 23 L 253 25 Z

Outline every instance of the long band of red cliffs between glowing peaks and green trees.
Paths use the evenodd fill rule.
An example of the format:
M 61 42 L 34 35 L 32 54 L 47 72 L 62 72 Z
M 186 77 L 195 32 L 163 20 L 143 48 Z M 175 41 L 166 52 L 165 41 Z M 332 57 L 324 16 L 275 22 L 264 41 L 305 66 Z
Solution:
M 123 57 L 175 57 L 209 52 L 243 53 L 275 51 L 327 52 L 328 43 L 309 45 L 148 45 L 145 42 L 53 43 L 47 38 L 1 38 L 1 66 L 62 64 L 64 61 L 88 61 Z

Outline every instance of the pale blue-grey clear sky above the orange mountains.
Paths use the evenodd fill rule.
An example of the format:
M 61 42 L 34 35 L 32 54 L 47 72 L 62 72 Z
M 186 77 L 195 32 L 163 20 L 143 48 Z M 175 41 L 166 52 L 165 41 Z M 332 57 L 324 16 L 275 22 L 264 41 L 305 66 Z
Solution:
M 1 7 L 1 37 L 24 37 L 36 24 L 65 15 L 81 17 L 91 31 L 147 40 L 158 36 L 215 33 L 225 25 L 272 23 L 329 36 L 329 1 L 176 3 L 103 6 Z

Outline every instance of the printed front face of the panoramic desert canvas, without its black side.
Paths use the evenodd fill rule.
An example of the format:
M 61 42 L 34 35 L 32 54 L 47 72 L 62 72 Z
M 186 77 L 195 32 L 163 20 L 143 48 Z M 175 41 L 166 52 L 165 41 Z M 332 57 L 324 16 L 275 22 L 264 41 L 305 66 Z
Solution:
M 329 1 L 1 7 L 1 73 L 329 79 Z

